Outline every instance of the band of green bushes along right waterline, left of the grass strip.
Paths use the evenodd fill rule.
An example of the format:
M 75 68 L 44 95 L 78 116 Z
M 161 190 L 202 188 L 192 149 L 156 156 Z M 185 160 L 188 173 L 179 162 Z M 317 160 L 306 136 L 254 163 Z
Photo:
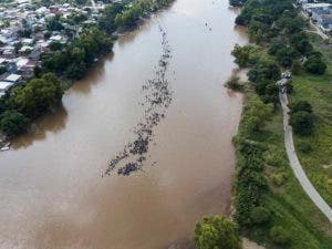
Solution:
M 272 112 L 272 104 L 263 103 L 257 95 L 251 96 L 245 106 L 242 122 L 235 139 L 235 220 L 243 235 L 257 238 L 262 235 L 255 232 L 268 231 L 263 237 L 270 238 L 270 241 L 280 248 L 288 248 L 291 243 L 289 231 L 273 224 L 276 214 L 266 206 L 266 196 L 270 193 L 264 175 L 269 148 L 266 143 L 257 141 Z

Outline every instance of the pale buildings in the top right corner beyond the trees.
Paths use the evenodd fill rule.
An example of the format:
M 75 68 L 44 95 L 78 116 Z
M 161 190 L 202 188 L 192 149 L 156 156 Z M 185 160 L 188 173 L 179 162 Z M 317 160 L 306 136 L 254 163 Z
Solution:
M 318 23 L 323 32 L 332 31 L 332 4 L 328 2 L 308 2 L 299 0 L 302 9 Z

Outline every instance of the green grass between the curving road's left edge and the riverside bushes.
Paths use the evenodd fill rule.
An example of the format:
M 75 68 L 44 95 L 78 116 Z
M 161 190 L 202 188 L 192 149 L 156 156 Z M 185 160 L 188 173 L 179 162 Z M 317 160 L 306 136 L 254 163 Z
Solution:
M 253 91 L 249 90 L 246 95 L 250 97 L 253 94 Z M 331 224 L 302 190 L 289 166 L 280 108 L 255 138 L 268 147 L 263 174 L 268 180 L 269 191 L 264 194 L 262 201 L 263 206 L 271 210 L 272 219 L 266 226 L 248 229 L 246 235 L 267 248 L 331 249 Z M 291 242 L 282 247 L 274 245 L 267 236 L 272 226 L 283 227 L 290 235 Z

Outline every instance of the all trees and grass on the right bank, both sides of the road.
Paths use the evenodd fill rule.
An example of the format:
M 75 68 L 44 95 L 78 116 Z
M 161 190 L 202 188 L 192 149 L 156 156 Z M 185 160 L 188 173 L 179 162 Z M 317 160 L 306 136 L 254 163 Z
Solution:
M 292 3 L 230 1 L 242 7 L 236 24 L 248 28 L 251 41 L 232 51 L 239 68 L 249 68 L 250 83 L 239 84 L 237 79 L 228 82 L 236 90 L 242 85 L 246 95 L 234 138 L 234 218 L 239 235 L 266 248 L 328 249 L 332 248 L 331 224 L 305 195 L 289 166 L 276 81 L 282 70 L 294 74 L 287 91 L 297 149 L 309 177 L 331 205 L 331 45 L 305 33 L 307 23 Z M 323 164 L 325 168 L 314 167 Z M 210 231 L 207 237 L 215 232 L 214 238 L 222 236 L 216 229 Z M 226 248 L 205 245 L 201 248 Z

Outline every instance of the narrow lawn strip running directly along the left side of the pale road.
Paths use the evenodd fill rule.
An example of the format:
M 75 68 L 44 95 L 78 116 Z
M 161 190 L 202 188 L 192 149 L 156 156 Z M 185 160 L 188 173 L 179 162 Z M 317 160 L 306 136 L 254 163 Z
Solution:
M 272 146 L 274 153 L 282 155 L 278 170 L 286 174 L 287 180 L 280 187 L 269 181 L 271 194 L 267 196 L 267 206 L 276 211 L 272 222 L 290 228 L 292 243 L 290 248 L 331 248 L 332 240 L 324 234 L 332 232 L 329 220 L 320 212 L 314 204 L 305 195 L 295 179 L 288 159 L 283 144 L 282 113 L 276 115 L 266 126 L 266 143 Z M 267 165 L 266 174 L 276 168 Z M 278 211 L 278 212 L 277 212 Z

